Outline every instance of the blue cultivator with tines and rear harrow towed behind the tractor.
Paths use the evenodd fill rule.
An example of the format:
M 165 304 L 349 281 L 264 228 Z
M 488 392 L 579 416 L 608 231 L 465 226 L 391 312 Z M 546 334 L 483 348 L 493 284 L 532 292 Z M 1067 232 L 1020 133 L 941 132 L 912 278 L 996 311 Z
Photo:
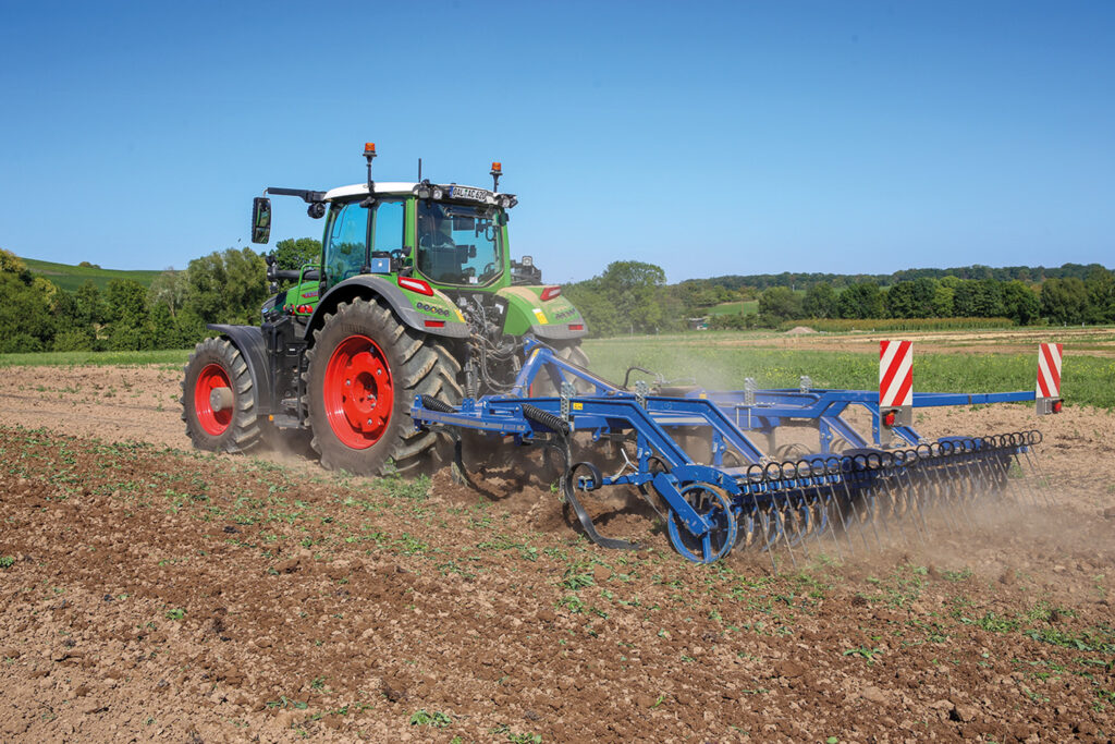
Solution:
M 562 394 L 526 395 L 539 375 Z M 804 378 L 797 390 L 748 384 L 734 393 L 657 393 L 672 395 L 643 383 L 630 392 L 529 342 L 510 395 L 466 398 L 456 407 L 418 396 L 410 415 L 416 426 L 455 436 L 462 470 L 463 431 L 555 448 L 563 460 L 564 500 L 588 537 L 605 548 L 638 545 L 601 535 L 581 499 L 604 486 L 634 486 L 663 519 L 675 549 L 700 563 L 733 549 L 764 550 L 772 560 L 784 549 L 796 562 L 796 553 L 808 554 L 823 539 L 838 552 L 895 539 L 924 541 L 928 514 L 962 523 L 990 499 L 1048 499 L 1044 479 L 1022 477 L 1039 474 L 1038 432 L 928 441 L 909 425 L 908 409 L 881 406 L 874 392 L 809 389 Z M 1036 396 L 1039 406 L 1045 400 L 1059 410 L 1059 399 L 1028 392 L 910 394 L 900 403 L 918 408 Z M 870 415 L 870 441 L 849 421 L 856 408 Z M 817 433 L 815 452 L 777 445 L 776 433 L 794 428 Z M 619 453 L 607 467 L 611 475 L 604 474 L 602 454 L 595 463 L 574 454 L 602 453 L 603 443 Z

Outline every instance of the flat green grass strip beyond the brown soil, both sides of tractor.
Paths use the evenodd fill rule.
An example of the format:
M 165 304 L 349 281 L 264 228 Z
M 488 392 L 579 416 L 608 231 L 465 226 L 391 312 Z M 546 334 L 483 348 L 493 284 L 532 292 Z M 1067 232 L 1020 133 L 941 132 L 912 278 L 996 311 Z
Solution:
M 660 373 L 672 381 L 695 381 L 709 389 L 741 389 L 745 377 L 759 387 L 798 386 L 808 375 L 814 387 L 871 390 L 879 385 L 875 352 L 766 349 L 724 344 L 738 334 L 701 332 L 671 336 L 588 339 L 584 349 L 592 368 L 608 379 L 622 381 L 629 366 Z M 749 338 L 769 334 L 748 334 Z M 54 351 L 0 355 L 0 368 L 50 365 L 159 365 L 178 368 L 190 349 L 167 351 Z M 1064 387 L 1069 405 L 1115 408 L 1115 359 L 1066 355 Z M 1032 354 L 919 354 L 914 389 L 923 393 L 1002 393 L 1031 390 Z M 648 375 L 636 374 L 632 379 Z

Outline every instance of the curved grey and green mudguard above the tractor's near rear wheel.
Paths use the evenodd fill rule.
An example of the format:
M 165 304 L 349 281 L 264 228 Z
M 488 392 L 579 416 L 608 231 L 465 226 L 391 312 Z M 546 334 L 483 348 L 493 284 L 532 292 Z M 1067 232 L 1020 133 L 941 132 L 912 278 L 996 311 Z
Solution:
M 442 292 L 434 290 L 434 296 L 429 297 L 409 290 L 404 291 L 389 277 L 376 274 L 361 274 L 346 279 L 333 286 L 324 297 L 318 301 L 318 306 L 310 316 L 310 323 L 307 327 L 307 339 L 312 338 L 312 334 L 324 323 L 327 312 L 341 302 L 346 302 L 355 297 L 367 297 L 375 294 L 380 297 L 403 319 L 407 326 L 415 330 L 432 336 L 447 336 L 449 338 L 468 338 L 468 325 L 464 321 L 460 312 L 454 307 L 449 298 Z M 425 305 L 429 310 L 421 311 L 419 305 Z M 426 321 L 442 321 L 439 327 L 427 326 Z

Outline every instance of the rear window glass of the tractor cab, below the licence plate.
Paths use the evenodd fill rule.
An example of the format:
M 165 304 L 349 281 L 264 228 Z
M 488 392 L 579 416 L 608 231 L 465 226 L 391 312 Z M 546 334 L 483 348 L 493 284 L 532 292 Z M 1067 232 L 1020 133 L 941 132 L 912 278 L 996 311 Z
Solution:
M 503 272 L 488 206 L 418 202 L 418 271 L 443 284 L 486 284 Z

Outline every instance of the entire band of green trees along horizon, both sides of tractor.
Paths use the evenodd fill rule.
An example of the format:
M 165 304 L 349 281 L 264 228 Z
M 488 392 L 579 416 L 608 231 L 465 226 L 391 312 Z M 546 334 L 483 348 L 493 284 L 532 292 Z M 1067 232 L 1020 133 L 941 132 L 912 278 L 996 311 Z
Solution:
M 311 238 L 279 241 L 282 269 L 314 260 Z M 270 294 L 262 254 L 230 248 L 167 270 L 149 287 L 113 279 L 105 290 L 90 280 L 76 291 L 37 276 L 0 250 L 0 352 L 146 350 L 192 346 L 211 322 L 258 323 Z M 987 271 L 983 271 L 987 269 Z M 1008 318 L 1018 325 L 1115 322 L 1115 273 L 1098 264 L 988 269 L 954 276 L 913 269 L 879 278 L 851 274 L 777 274 L 788 283 L 740 284 L 739 277 L 666 283 L 651 263 L 615 261 L 599 276 L 564 288 L 593 336 L 685 330 L 691 319 L 730 301 L 757 300 L 757 310 L 712 316 L 714 328 L 777 327 L 797 319 Z M 1060 276 L 1050 276 L 1053 272 Z M 764 274 L 774 277 L 775 274 Z M 902 276 L 902 279 L 895 277 Z M 1014 277 L 1000 279 L 998 277 Z M 1040 283 L 1017 277 L 1044 277 Z M 802 279 L 806 277 L 807 279 Z M 830 280 L 815 281 L 827 277 Z M 849 281 L 849 279 L 855 279 Z M 801 282 L 808 286 L 802 291 Z M 884 282 L 890 282 L 889 284 Z

